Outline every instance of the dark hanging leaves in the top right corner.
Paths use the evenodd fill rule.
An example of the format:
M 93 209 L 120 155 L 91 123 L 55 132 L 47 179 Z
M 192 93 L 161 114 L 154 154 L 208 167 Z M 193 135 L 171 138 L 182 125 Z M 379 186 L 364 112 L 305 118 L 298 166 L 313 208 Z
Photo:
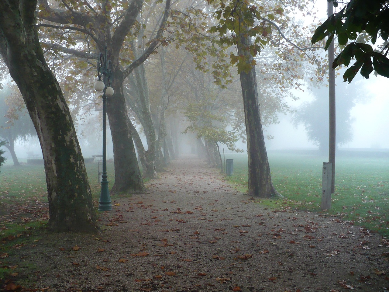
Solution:
M 333 2 L 337 6 L 337 2 Z M 385 0 L 351 0 L 316 29 L 312 44 L 328 36 L 325 46 L 328 49 L 336 35 L 339 45 L 345 46 L 332 64 L 334 69 L 340 65 L 348 67 L 351 59 L 355 59 L 345 71 L 344 81 L 350 83 L 359 71 L 365 78 L 369 78 L 373 70 L 389 77 L 388 8 Z

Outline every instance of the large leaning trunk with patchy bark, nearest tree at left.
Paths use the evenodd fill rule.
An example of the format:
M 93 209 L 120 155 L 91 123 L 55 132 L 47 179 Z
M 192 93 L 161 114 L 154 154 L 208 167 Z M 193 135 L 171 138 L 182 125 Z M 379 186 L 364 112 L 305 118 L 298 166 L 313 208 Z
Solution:
M 0 0 L 0 52 L 39 137 L 46 171 L 49 229 L 96 230 L 91 190 L 72 117 L 39 44 L 36 4 L 36 0 Z

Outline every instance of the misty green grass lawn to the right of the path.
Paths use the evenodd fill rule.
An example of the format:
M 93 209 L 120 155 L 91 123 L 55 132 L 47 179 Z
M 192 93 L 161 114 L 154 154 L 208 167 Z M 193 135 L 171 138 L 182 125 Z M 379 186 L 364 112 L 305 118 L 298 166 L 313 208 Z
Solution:
M 389 153 L 338 152 L 335 194 L 328 213 L 389 236 Z M 285 199 L 261 200 L 262 204 L 321 212 L 322 163 L 328 157 L 317 154 L 269 151 L 273 184 Z M 226 158 L 234 159 L 234 174 L 227 180 L 247 192 L 247 155 L 228 154 Z

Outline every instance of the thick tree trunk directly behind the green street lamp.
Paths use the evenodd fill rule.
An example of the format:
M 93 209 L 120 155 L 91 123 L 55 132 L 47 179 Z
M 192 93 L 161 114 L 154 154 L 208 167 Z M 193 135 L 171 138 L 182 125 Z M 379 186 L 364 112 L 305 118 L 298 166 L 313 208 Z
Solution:
M 114 145 L 115 162 L 115 183 L 111 192 L 145 192 L 146 188 L 140 174 L 130 131 L 131 121 L 127 116 L 123 93 L 123 72 L 115 66 L 113 76 L 112 87 L 115 93 L 107 98 L 107 114 Z

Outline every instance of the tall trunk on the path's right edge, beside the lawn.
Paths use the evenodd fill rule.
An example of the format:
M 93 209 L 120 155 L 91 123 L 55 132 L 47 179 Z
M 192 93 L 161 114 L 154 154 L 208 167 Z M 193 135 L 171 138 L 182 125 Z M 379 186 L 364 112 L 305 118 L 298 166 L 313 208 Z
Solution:
M 238 53 L 245 56 L 247 63 L 252 64 L 253 57 L 250 51 L 247 50 L 250 44 L 251 40 L 247 37 L 247 34 L 242 33 L 240 42 L 238 42 Z M 249 196 L 265 198 L 279 195 L 272 183 L 269 160 L 266 153 L 254 67 L 249 72 L 240 72 L 240 84 L 242 87 L 247 152 L 249 156 Z

